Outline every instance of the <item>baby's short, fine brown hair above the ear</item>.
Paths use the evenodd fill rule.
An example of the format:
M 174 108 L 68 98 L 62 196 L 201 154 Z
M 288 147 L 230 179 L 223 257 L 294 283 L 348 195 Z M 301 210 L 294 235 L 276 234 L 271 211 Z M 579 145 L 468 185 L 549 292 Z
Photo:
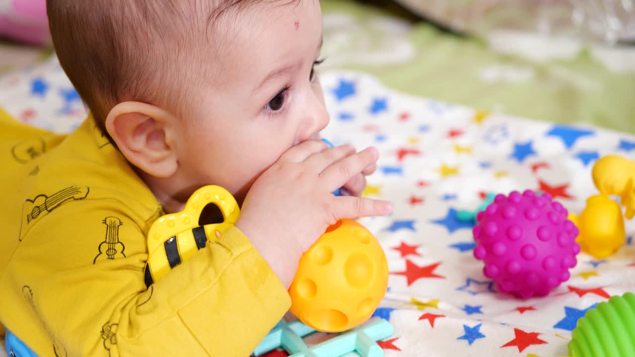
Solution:
M 258 3 L 297 0 L 47 0 L 46 11 L 60 64 L 107 135 L 110 109 L 128 100 L 186 115 L 186 94 L 214 70 L 215 22 Z

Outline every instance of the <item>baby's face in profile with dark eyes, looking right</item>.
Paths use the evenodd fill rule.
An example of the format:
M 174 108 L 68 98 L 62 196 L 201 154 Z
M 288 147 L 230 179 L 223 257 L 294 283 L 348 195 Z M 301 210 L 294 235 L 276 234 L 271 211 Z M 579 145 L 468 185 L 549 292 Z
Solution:
M 217 24 L 220 53 L 210 56 L 218 75 L 201 78 L 199 114 L 179 135 L 179 168 L 195 187 L 221 185 L 242 201 L 285 151 L 319 140 L 328 124 L 313 71 L 322 43 L 319 1 L 284 3 L 264 1 Z

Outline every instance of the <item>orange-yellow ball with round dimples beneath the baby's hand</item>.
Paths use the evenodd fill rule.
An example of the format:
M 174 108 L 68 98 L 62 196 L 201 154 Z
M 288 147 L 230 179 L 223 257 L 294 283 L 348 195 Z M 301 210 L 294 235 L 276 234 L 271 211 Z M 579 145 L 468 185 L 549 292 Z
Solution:
M 289 288 L 291 313 L 316 330 L 349 330 L 370 318 L 387 287 L 382 246 L 364 226 L 344 219 L 300 259 Z

